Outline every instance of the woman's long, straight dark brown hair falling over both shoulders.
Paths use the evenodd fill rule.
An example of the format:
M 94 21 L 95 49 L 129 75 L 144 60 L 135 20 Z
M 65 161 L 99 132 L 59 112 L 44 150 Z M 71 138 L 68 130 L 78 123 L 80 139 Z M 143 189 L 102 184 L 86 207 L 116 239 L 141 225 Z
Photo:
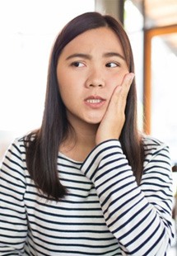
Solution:
M 66 194 L 66 188 L 58 178 L 57 160 L 59 145 L 67 137 L 70 129 L 66 109 L 58 91 L 56 74 L 58 58 L 65 45 L 76 36 L 104 26 L 109 27 L 119 36 L 129 72 L 134 72 L 133 53 L 122 24 L 114 17 L 101 15 L 98 12 L 86 12 L 69 21 L 59 33 L 51 51 L 42 125 L 39 130 L 31 132 L 25 138 L 26 164 L 30 177 L 39 190 L 50 199 L 58 200 Z M 119 140 L 139 183 L 142 177 L 143 146 L 137 130 L 136 95 L 135 80 L 133 80 L 125 109 L 126 121 Z

